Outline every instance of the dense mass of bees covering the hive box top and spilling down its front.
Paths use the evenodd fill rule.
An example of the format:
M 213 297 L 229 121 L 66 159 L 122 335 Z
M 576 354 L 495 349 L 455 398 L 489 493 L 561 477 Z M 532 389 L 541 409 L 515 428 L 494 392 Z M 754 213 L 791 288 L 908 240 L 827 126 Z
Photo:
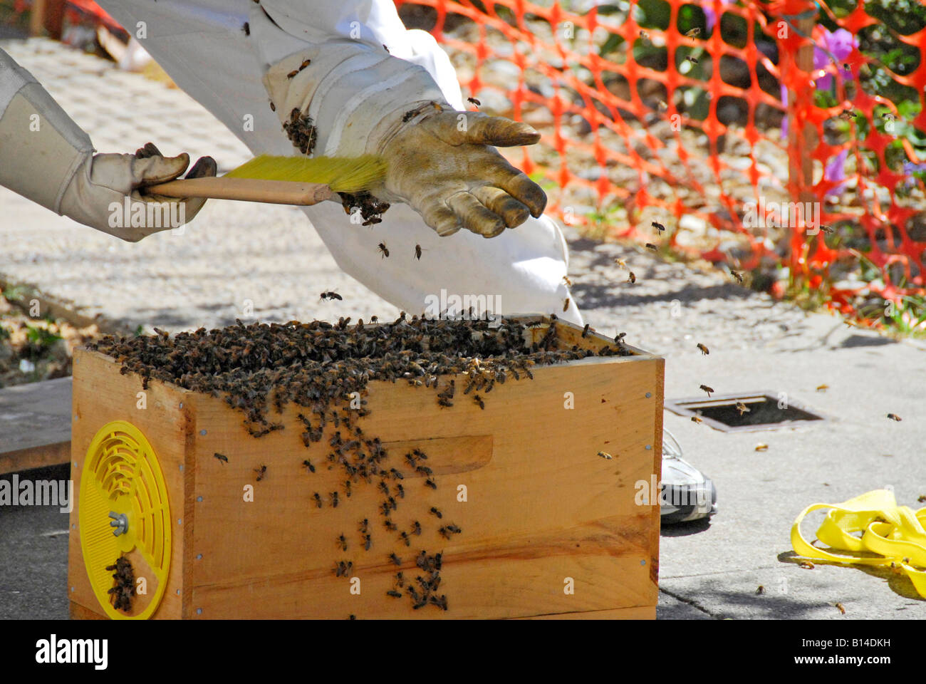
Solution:
M 526 341 L 534 339 L 527 327 L 515 321 L 503 320 L 490 327 L 488 321 L 430 321 L 418 316 L 408 319 L 402 313 L 394 323 L 378 326 L 350 322 L 344 317 L 337 323 L 245 325 L 239 321 L 226 328 L 200 328 L 173 337 L 165 332 L 155 336 L 106 336 L 91 347 L 118 360 L 123 374 L 138 374 L 145 388 L 154 378 L 223 398 L 232 409 L 242 412 L 244 428 L 253 437 L 287 427 L 272 420 L 271 409 L 279 413 L 289 403 L 302 407 L 303 412 L 297 414 L 297 434 L 301 433 L 307 448 L 314 449 L 320 443 L 323 451 L 318 457 L 313 455 L 312 460 L 295 461 L 294 468 L 305 469 L 304 476 L 316 473 L 319 465 L 344 471 L 343 477 L 332 480 L 341 483 L 339 491 L 327 495 L 307 493 L 307 509 L 344 509 L 353 501 L 342 496 L 351 496 L 353 488 L 377 488 L 382 494 L 380 520 L 392 533 L 392 541 L 386 543 L 394 545 L 394 550 L 386 546 L 383 553 L 392 551 L 389 559 L 399 567 L 403 559 L 397 550 L 413 548 L 412 539 L 424 531 L 418 520 L 408 521 L 404 530 L 393 522 L 392 516 L 400 505 L 414 502 L 414 490 L 407 486 L 407 478 L 419 476 L 425 491 L 436 489 L 439 478 L 426 464 L 427 454 L 419 449 L 405 454 L 404 462 L 396 463 L 407 465 L 411 472 L 389 467 L 389 454 L 380 438 L 364 433 L 359 421 L 369 414 L 365 397 L 370 381 L 407 382 L 428 389 L 439 405 L 448 408 L 454 405 L 453 399 L 469 394 L 482 407 L 483 398 L 495 384 L 504 384 L 509 378 L 532 379 L 532 368 L 537 365 L 631 353 L 620 344 L 622 335 L 614 346 L 597 352 L 578 346 L 562 348 L 556 321 L 533 343 Z M 455 376 L 465 380 L 457 386 L 452 379 Z M 359 399 L 356 404 L 354 399 Z M 216 453 L 215 457 L 221 463 L 228 462 L 223 454 Z M 257 480 L 265 479 L 267 467 L 255 465 Z M 444 517 L 430 504 L 424 511 L 438 519 Z M 372 537 L 381 534 L 374 531 L 375 525 L 370 525 L 370 517 L 374 516 L 360 523 L 359 536 L 354 538 L 357 543 L 350 543 L 347 534 L 341 534 L 335 539 L 335 548 L 370 551 Z M 438 525 L 441 528 L 437 531 L 446 538 L 462 532 L 453 523 Z M 377 546 L 381 543 L 378 538 Z M 356 562 L 357 557 L 335 559 L 332 574 L 348 577 Z M 440 553 L 420 551 L 419 582 L 404 591 L 414 609 L 425 605 L 447 609 L 446 595 L 437 591 L 441 584 L 440 564 Z

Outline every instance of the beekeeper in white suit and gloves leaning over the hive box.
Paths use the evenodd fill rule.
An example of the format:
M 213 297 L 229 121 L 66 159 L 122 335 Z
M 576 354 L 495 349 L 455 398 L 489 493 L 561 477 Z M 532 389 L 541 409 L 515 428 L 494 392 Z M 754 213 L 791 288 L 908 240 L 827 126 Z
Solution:
M 429 33 L 405 29 L 392 0 L 99 5 L 255 155 L 301 154 L 282 127 L 297 108 L 316 127 L 315 155 L 389 161 L 372 193 L 391 207 L 375 227 L 351 222 L 340 202 L 303 208 L 339 267 L 382 298 L 419 313 L 429 297 L 484 295 L 500 304 L 495 313 L 555 312 L 582 323 L 544 192 L 494 149 L 530 145 L 539 134 L 462 113 L 449 58 Z M 154 232 L 113 228 L 107 207 L 114 196 L 151 200 L 139 191 L 180 176 L 187 156 L 164 158 L 154 146 L 94 156 L 87 134 L 28 72 L 2 52 L 0 67 L 0 184 L 126 240 Z M 24 133 L 33 114 L 41 133 Z M 215 172 L 203 158 L 187 177 Z M 189 221 L 203 201 L 183 203 Z M 383 241 L 389 259 L 380 258 Z

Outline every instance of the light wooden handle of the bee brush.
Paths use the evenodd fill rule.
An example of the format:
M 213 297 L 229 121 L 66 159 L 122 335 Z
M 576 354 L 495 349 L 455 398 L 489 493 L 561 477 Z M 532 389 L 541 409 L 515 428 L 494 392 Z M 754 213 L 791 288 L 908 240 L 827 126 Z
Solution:
M 320 183 L 264 181 L 254 178 L 191 178 L 147 185 L 144 191 L 168 197 L 209 197 L 211 199 L 241 199 L 245 202 L 311 205 L 332 196 L 332 189 Z

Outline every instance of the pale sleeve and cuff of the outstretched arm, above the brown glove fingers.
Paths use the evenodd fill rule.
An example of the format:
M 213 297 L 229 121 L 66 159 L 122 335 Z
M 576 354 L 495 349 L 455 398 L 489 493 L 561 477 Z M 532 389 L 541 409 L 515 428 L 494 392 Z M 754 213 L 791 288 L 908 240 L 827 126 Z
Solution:
M 286 122 L 299 109 L 310 117 L 316 154 L 372 151 L 402 112 L 421 102 L 461 108 L 449 58 L 430 34 L 407 32 L 392 2 L 329 2 L 318 10 L 307 17 L 295 0 L 263 0 L 251 9 L 277 115 Z

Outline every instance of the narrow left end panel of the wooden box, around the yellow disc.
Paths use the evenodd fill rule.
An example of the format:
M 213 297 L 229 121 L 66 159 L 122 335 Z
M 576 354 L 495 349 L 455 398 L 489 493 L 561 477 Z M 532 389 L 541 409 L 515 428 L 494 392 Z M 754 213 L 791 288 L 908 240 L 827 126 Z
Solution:
M 172 523 L 168 588 L 154 617 L 179 618 L 183 614 L 183 550 L 184 546 L 190 546 L 184 539 L 192 535 L 193 513 L 192 502 L 184 500 L 184 480 L 193 474 L 192 468 L 185 467 L 185 458 L 187 442 L 191 440 L 187 430 L 191 424 L 189 414 L 193 409 L 186 403 L 181 409 L 180 403 L 190 393 L 152 382 L 145 390 L 146 407 L 141 409 L 137 396 L 140 391 L 141 378 L 134 374 L 119 374 L 119 363 L 96 352 L 75 351 L 71 415 L 71 477 L 74 480 L 75 506 L 70 513 L 68 558 L 69 598 L 72 604 L 82 609 L 72 609 L 71 614 L 75 616 L 85 616 L 88 612 L 105 614 L 91 588 L 81 553 L 81 471 L 96 433 L 105 424 L 116 420 L 127 421 L 141 430 L 156 454 L 168 488 Z M 189 486 L 192 489 L 192 482 Z M 116 559 L 112 560 L 115 562 Z M 136 572 L 136 578 L 138 576 L 141 575 Z M 147 579 L 148 593 L 152 594 L 156 579 Z

